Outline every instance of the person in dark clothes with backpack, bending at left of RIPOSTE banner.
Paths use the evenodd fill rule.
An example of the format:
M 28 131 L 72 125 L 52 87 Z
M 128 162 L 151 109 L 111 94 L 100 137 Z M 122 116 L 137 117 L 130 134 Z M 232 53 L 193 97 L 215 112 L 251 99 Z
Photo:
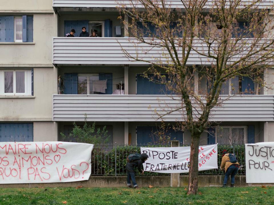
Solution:
M 127 172 L 127 185 L 129 188 L 139 188 L 136 179 L 135 179 L 135 173 L 134 173 L 134 167 L 137 167 L 139 172 L 141 174 L 144 174 L 144 170 L 142 170 L 142 164 L 148 159 L 148 155 L 146 153 L 140 154 L 130 154 L 127 157 L 127 163 L 126 163 L 126 172 Z M 133 187 L 131 186 L 131 182 L 133 184 Z

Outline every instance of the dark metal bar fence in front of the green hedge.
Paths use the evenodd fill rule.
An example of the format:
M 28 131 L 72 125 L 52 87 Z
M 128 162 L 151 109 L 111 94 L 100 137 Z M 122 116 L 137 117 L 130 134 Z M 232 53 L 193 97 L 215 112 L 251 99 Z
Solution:
M 126 157 L 132 153 L 140 153 L 140 147 L 170 147 L 165 145 L 94 145 L 91 156 L 91 175 L 126 175 Z M 180 145 L 190 146 L 190 145 Z M 245 175 L 245 145 L 218 145 L 218 166 L 221 164 L 222 152 L 235 153 L 240 168 L 238 175 Z M 222 175 L 220 169 L 200 171 L 199 175 Z M 145 172 L 145 175 L 169 175 L 165 173 Z M 188 175 L 188 173 L 181 173 Z

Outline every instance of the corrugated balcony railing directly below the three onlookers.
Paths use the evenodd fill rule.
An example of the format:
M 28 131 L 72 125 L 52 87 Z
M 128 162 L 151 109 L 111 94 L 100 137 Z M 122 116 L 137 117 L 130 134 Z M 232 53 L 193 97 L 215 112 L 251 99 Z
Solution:
M 152 39 L 148 39 L 150 41 Z M 157 40 L 153 40 L 155 43 Z M 253 39 L 243 39 L 237 45 L 240 46 L 239 54 L 235 54 L 230 61 L 238 60 L 243 54 L 246 54 L 251 47 Z M 264 40 L 265 43 L 270 40 Z M 211 55 L 214 55 L 218 46 L 211 45 Z M 260 44 L 258 43 L 258 48 Z M 188 65 L 210 65 L 212 59 L 198 53 L 207 53 L 208 47 L 206 43 L 199 39 L 195 39 L 192 50 L 188 58 Z M 124 49 L 131 57 L 149 62 L 168 63 L 171 61 L 168 51 L 161 46 L 152 47 L 149 44 L 140 43 L 135 38 L 66 38 L 53 37 L 53 63 L 54 64 L 130 64 L 145 65 L 142 61 L 129 58 L 122 51 Z M 180 58 L 182 50 L 178 49 Z M 261 52 L 256 55 L 261 56 Z M 255 57 L 256 58 L 256 57 Z

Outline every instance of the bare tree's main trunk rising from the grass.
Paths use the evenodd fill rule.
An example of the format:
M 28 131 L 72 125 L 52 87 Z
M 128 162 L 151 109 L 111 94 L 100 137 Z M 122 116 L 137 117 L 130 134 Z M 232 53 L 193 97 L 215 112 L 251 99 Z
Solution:
M 190 167 L 188 178 L 188 195 L 198 192 L 198 155 L 200 136 L 192 135 L 190 147 Z

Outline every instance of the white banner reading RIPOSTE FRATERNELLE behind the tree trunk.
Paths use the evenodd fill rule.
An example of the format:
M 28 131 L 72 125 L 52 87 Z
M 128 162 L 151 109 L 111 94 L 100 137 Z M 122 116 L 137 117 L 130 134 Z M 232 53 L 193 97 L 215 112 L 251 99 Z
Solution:
M 189 171 L 190 147 L 141 147 L 149 158 L 143 163 L 144 171 L 186 173 Z M 217 169 L 217 144 L 199 147 L 199 171 Z

